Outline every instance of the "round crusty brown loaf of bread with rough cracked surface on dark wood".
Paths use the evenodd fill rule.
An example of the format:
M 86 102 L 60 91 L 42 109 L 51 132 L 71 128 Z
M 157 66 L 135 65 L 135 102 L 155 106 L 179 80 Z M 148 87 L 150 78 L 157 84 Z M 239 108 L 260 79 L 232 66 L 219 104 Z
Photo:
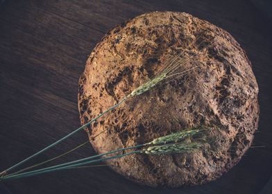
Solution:
M 246 53 L 225 30 L 184 12 L 140 15 L 103 37 L 79 80 L 81 123 L 158 75 L 176 56 L 187 59 L 179 62 L 182 69 L 196 68 L 177 71 L 178 76 L 129 98 L 86 130 L 94 150 L 104 153 L 187 127 L 216 126 L 210 134 L 216 149 L 107 162 L 148 186 L 196 185 L 220 177 L 241 159 L 257 129 L 258 87 Z

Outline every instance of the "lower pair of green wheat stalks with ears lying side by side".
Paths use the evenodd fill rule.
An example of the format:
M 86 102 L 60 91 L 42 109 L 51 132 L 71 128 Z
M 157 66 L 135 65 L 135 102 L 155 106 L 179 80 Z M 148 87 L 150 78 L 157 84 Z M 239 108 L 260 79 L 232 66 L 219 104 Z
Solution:
M 76 168 L 78 166 L 84 166 L 87 164 L 93 164 L 99 161 L 108 161 L 110 159 L 118 159 L 120 157 L 125 157 L 127 155 L 133 155 L 133 154 L 144 154 L 144 155 L 170 155 L 174 153 L 182 153 L 182 152 L 193 152 L 194 150 L 198 150 L 203 147 L 203 145 L 209 143 L 204 141 L 195 141 L 192 143 L 186 143 L 184 140 L 186 137 L 194 136 L 196 134 L 202 136 L 204 133 L 203 131 L 207 130 L 207 128 L 204 127 L 194 127 L 189 130 L 184 130 L 182 132 L 176 132 L 173 134 L 169 134 L 166 136 L 161 136 L 157 139 L 153 139 L 153 141 L 150 141 L 149 143 L 143 143 L 140 145 L 134 145 L 128 148 L 121 148 L 118 150 L 112 150 L 110 152 L 106 152 L 100 155 L 94 155 L 92 157 L 86 157 L 84 159 L 79 159 L 76 161 L 70 161 L 65 164 L 59 164 L 56 166 L 51 166 L 47 168 L 42 168 L 39 170 L 32 170 L 26 173 L 19 173 L 19 174 L 12 174 L 12 175 L 6 175 L 5 177 L 1 177 L 0 180 L 7 180 L 7 179 L 18 179 L 22 177 L 30 177 L 33 175 L 40 175 L 44 173 L 50 173 L 57 170 L 65 170 L 65 169 L 71 169 Z M 181 141 L 181 142 L 180 142 Z M 173 143 L 169 143 L 173 142 Z M 168 144 L 166 144 L 168 143 Z M 160 145 L 162 144 L 162 145 Z M 122 155 L 115 155 L 112 157 L 105 157 L 101 159 L 95 159 L 97 157 L 102 157 L 105 155 L 110 155 L 115 152 L 120 152 L 124 150 L 130 150 L 135 148 L 141 148 L 140 150 L 133 150 L 128 153 L 122 154 Z

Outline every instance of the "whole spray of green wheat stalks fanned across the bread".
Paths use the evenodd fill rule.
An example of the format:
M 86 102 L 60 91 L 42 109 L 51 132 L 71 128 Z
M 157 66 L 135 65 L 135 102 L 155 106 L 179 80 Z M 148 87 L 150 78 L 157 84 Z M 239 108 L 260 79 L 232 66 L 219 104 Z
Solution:
M 195 41 L 192 42 L 192 44 L 194 44 L 198 40 L 198 38 L 196 38 Z M 200 46 L 201 44 L 205 44 L 205 42 L 199 43 L 198 46 Z M 206 44 L 207 44 L 207 42 L 206 42 Z M 94 121 L 99 119 L 104 114 L 110 112 L 110 110 L 118 107 L 119 105 L 124 103 L 124 101 L 128 100 L 129 98 L 133 98 L 134 96 L 139 96 L 140 94 L 143 94 L 144 92 L 150 90 L 151 88 L 158 86 L 160 82 L 163 82 L 163 81 L 165 82 L 169 78 L 174 78 L 174 77 L 176 78 L 177 76 L 181 76 L 181 75 L 187 73 L 188 71 L 192 71 L 192 69 L 197 68 L 197 66 L 195 66 L 195 67 L 189 67 L 186 69 L 184 64 L 189 63 L 191 60 L 196 60 L 198 55 L 200 55 L 203 51 L 205 51 L 210 46 L 212 46 L 212 40 L 206 46 L 203 46 L 201 48 L 201 51 L 199 51 L 198 53 L 191 55 L 187 58 L 182 58 L 181 57 L 182 53 L 177 54 L 174 58 L 171 58 L 170 60 L 165 62 L 165 65 L 159 71 L 158 76 L 151 78 L 151 80 L 148 80 L 143 85 L 140 85 L 139 87 L 134 89 L 130 94 L 125 96 L 123 99 L 121 99 L 119 101 L 119 103 L 108 108 L 107 110 L 105 110 L 105 112 L 102 112 L 101 114 L 99 114 L 99 116 L 96 116 L 96 118 L 93 118 L 91 121 L 89 121 L 85 125 L 82 125 L 81 127 L 74 130 L 73 132 L 62 137 L 62 139 L 59 139 L 58 141 L 52 143 L 51 145 L 47 146 L 46 148 L 40 150 L 39 152 L 36 152 L 34 155 L 31 155 L 30 157 L 24 159 L 23 161 L 20 161 L 19 163 L 15 164 L 14 166 L 11 166 L 10 168 L 3 170 L 3 172 L 0 173 L 0 181 L 8 180 L 8 179 L 17 179 L 17 178 L 22 178 L 22 177 L 29 177 L 29 176 L 33 176 L 33 175 L 40 175 L 42 173 L 49 173 L 49 172 L 53 172 L 56 170 L 77 168 L 79 166 L 84 166 L 86 164 L 93 164 L 93 163 L 99 162 L 99 161 L 107 161 L 110 159 L 117 159 L 120 157 L 125 157 L 126 155 L 132 155 L 132 154 L 169 155 L 169 154 L 180 153 L 180 152 L 193 152 L 194 150 L 198 150 L 198 149 L 202 148 L 203 145 L 209 143 L 204 137 L 201 137 L 200 140 L 199 139 L 194 140 L 189 143 L 187 141 L 185 141 L 185 139 L 192 138 L 196 135 L 203 136 L 203 134 L 205 134 L 205 131 L 207 131 L 207 129 L 209 129 L 209 127 L 198 126 L 195 128 L 183 130 L 181 132 L 169 134 L 167 136 L 161 136 L 157 139 L 153 139 L 153 141 L 150 141 L 148 143 L 143 143 L 141 145 L 135 145 L 135 146 L 131 146 L 128 148 L 121 148 L 118 150 L 112 150 L 110 152 L 106 152 L 106 153 L 103 153 L 100 155 L 94 155 L 92 157 L 86 157 L 83 159 L 78 159 L 76 161 L 70 161 L 65 164 L 59 164 L 56 166 L 41 168 L 38 170 L 27 171 L 31 168 L 35 168 L 35 167 L 40 166 L 42 164 L 46 164 L 49 161 L 52 161 L 52 160 L 57 159 L 59 157 L 62 157 L 63 155 L 66 155 L 67 153 L 76 150 L 77 148 L 80 148 L 81 146 L 85 145 L 88 142 L 88 141 L 86 141 L 85 143 L 78 145 L 76 148 L 69 150 L 68 152 L 65 152 L 65 154 L 63 154 L 63 155 L 60 155 L 58 157 L 54 157 L 53 159 L 49 159 L 49 160 L 44 161 L 40 164 L 36 164 L 34 166 L 29 166 L 28 168 L 18 170 L 15 173 L 10 173 L 10 171 L 12 171 L 15 168 L 26 163 L 26 161 L 33 159 L 33 157 L 36 157 L 37 155 L 42 154 L 42 152 L 45 152 L 46 150 L 49 150 L 49 148 L 52 148 L 53 146 L 57 145 L 58 143 L 64 141 L 69 136 L 75 134 L 76 132 L 78 132 L 80 130 L 83 130 L 85 127 L 89 126 L 91 123 L 93 123 Z M 132 150 L 132 151 L 126 152 L 121 155 L 103 157 L 103 156 L 111 155 L 113 153 L 124 151 L 124 150 Z M 99 158 L 99 157 L 102 157 L 102 158 Z M 24 171 L 27 171 L 27 172 L 24 173 Z

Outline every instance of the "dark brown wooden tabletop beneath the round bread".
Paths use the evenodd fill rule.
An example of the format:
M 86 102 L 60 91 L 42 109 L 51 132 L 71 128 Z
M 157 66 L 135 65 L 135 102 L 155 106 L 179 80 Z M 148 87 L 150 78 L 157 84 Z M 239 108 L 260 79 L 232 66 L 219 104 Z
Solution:
M 265 147 L 251 148 L 232 170 L 203 186 L 176 189 L 139 186 L 104 166 L 4 182 L 0 193 L 249 194 L 262 191 L 272 174 L 272 32 L 269 21 L 253 4 L 237 0 L 3 1 L 0 6 L 0 170 L 80 125 L 78 78 L 87 55 L 110 28 L 155 10 L 188 12 L 227 30 L 237 39 L 253 64 L 260 87 L 260 127 L 254 144 Z M 86 140 L 85 132 L 79 132 L 30 164 L 50 159 Z M 91 146 L 86 145 L 56 162 L 92 154 Z

